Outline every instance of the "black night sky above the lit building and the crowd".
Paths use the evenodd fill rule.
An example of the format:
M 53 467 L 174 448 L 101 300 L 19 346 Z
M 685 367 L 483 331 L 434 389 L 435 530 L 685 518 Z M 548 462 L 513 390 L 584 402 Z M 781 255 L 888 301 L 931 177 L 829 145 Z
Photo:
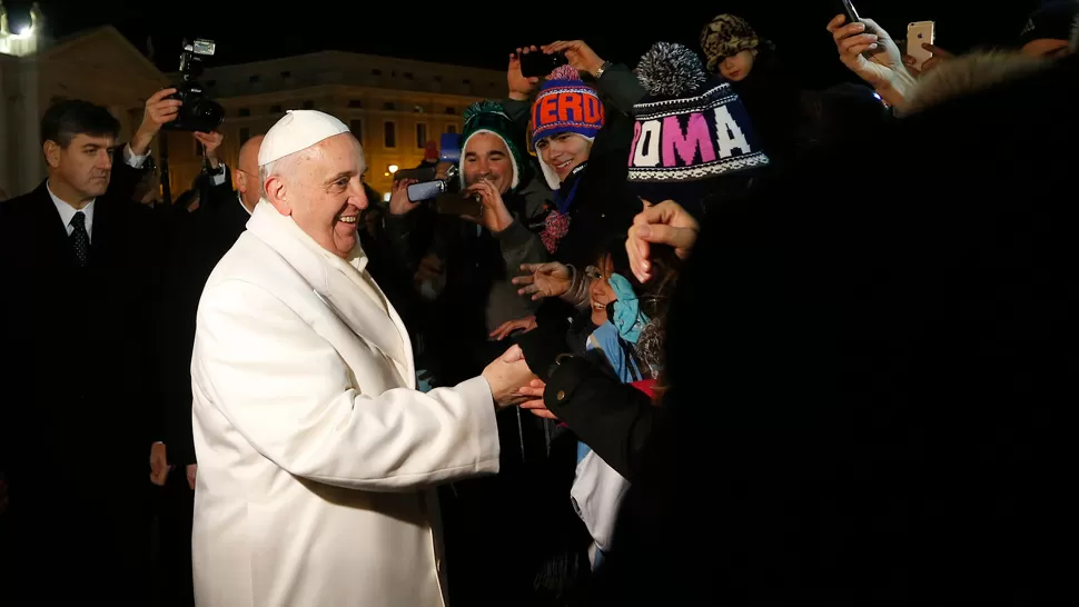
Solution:
M 12 29 L 29 20 L 30 3 L 4 1 Z M 278 11 L 267 10 L 269 2 L 250 0 L 174 0 L 161 2 L 160 10 L 148 10 L 154 0 L 128 1 L 128 7 L 137 8 L 135 11 L 121 8 L 123 3 L 44 0 L 41 7 L 56 37 L 110 23 L 145 50 L 147 37 L 152 36 L 156 62 L 164 71 L 176 70 L 184 37 L 217 42 L 217 56 L 207 61 L 207 67 L 336 49 L 504 69 L 507 53 L 516 46 L 577 38 L 604 59 L 633 66 L 659 40 L 699 50 L 697 34 L 703 24 L 720 12 L 733 12 L 775 41 L 803 87 L 823 88 L 849 77 L 824 31 L 828 20 L 839 12 L 838 0 L 735 0 L 706 4 L 712 7 L 707 9 L 679 2 L 677 10 L 667 12 L 661 11 L 663 3 L 656 1 L 642 2 L 646 10 L 627 10 L 630 2 L 565 2 L 562 6 L 567 12 L 557 17 L 550 14 L 560 6 L 552 2 L 534 4 L 542 7 L 538 10 L 506 1 L 476 4 L 499 7 L 487 11 L 462 10 L 468 4 L 459 0 L 387 2 L 386 16 L 378 20 L 368 17 L 377 6 L 364 2 L 291 2 L 280 4 L 285 8 Z M 937 21 L 938 43 L 953 51 L 1008 42 L 1039 3 L 1006 0 L 990 8 L 983 0 L 855 1 L 861 14 L 881 22 L 897 38 L 905 36 L 910 21 Z M 594 10 L 585 13 L 586 7 Z

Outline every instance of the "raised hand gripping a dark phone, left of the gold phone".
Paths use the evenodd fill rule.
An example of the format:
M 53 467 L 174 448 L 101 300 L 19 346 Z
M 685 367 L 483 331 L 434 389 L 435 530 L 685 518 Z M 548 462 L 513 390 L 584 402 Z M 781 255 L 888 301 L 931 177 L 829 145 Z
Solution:
M 844 26 L 845 21 L 845 16 L 838 14 L 828 23 L 844 66 L 875 89 L 895 86 L 909 78 L 903 56 L 884 28 L 872 19 Z

